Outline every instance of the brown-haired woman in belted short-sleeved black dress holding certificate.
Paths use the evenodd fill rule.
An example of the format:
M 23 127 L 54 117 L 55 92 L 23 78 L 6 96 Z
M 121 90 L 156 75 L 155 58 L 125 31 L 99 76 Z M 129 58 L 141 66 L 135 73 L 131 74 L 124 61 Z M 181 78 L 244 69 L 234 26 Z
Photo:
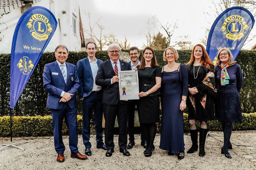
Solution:
M 140 125 L 143 126 L 147 142 L 145 156 L 151 156 L 154 151 L 156 123 L 159 122 L 161 68 L 157 65 L 154 50 L 146 47 L 143 50 L 141 65 L 134 70 L 139 76 L 138 114 Z

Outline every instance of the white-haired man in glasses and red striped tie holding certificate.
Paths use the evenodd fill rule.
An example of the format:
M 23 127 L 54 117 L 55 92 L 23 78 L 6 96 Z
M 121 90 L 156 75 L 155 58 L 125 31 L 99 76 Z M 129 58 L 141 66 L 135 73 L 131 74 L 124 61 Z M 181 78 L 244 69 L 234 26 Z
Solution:
M 96 76 L 96 85 L 103 88 L 103 111 L 105 118 L 105 144 L 108 149 L 106 156 L 112 156 L 114 152 L 114 126 L 117 116 L 119 127 L 119 152 L 124 156 L 130 156 L 127 151 L 127 110 L 128 100 L 120 100 L 119 95 L 119 77 L 118 71 L 131 70 L 131 65 L 119 59 L 121 47 L 119 44 L 113 43 L 108 47 L 108 56 L 110 59 L 100 63 Z

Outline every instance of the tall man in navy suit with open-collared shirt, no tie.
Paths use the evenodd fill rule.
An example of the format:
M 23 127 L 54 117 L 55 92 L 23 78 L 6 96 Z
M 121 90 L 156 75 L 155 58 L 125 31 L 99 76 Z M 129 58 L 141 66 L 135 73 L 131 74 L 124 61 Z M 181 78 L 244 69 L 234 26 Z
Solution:
M 94 111 L 95 132 L 97 148 L 107 150 L 102 140 L 102 93 L 101 86 L 95 84 L 95 78 L 97 75 L 98 67 L 101 60 L 95 58 L 97 52 L 97 45 L 94 42 L 88 42 L 86 44 L 86 52 L 88 57 L 77 61 L 77 74 L 79 78 L 80 87 L 78 90 L 78 97 L 82 99 L 83 106 L 83 123 L 82 123 L 82 137 L 85 146 L 85 154 L 90 156 L 91 143 L 90 140 L 90 120 L 92 116 L 92 110 Z

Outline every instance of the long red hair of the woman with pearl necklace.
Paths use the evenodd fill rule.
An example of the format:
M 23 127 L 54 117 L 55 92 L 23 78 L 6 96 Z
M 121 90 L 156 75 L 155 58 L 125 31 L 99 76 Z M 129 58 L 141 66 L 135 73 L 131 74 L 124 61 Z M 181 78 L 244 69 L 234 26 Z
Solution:
M 205 47 L 203 45 L 201 45 L 201 44 L 196 44 L 193 47 L 191 58 L 190 58 L 189 62 L 186 63 L 186 64 L 191 64 L 193 61 L 195 61 L 194 51 L 195 51 L 196 46 L 200 46 L 203 49 L 203 56 L 202 56 L 201 61 L 200 61 L 202 63 L 202 65 L 204 67 L 206 66 L 209 70 L 213 70 L 214 69 L 214 64 L 210 60 L 210 57 L 209 57 L 209 55 L 207 54 L 207 52 L 205 50 Z M 213 66 L 213 69 L 210 68 L 210 65 Z

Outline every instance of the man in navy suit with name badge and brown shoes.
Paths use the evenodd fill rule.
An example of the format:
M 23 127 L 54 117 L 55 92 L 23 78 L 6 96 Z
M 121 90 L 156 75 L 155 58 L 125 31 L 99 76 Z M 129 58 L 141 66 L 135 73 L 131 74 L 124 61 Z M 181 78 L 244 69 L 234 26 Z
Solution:
M 54 146 L 57 152 L 57 161 L 64 162 L 65 146 L 62 141 L 62 122 L 69 129 L 69 148 L 71 158 L 85 160 L 87 157 L 79 153 L 77 148 L 77 103 L 76 93 L 79 88 L 79 79 L 76 66 L 66 63 L 69 50 L 64 45 L 55 48 L 55 62 L 44 66 L 44 90 L 48 92 L 46 107 L 51 110 Z

